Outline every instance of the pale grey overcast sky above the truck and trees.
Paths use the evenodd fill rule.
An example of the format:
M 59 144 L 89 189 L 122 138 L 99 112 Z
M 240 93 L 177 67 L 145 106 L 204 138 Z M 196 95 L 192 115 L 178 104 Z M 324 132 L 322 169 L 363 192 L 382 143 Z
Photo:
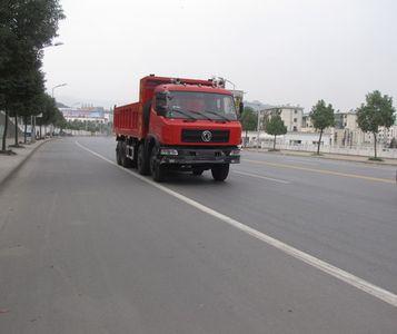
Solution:
M 227 78 L 245 99 L 347 111 L 397 99 L 395 0 L 61 0 L 63 42 L 44 51 L 49 94 L 106 108 L 149 73 Z M 229 86 L 231 88 L 231 85 Z

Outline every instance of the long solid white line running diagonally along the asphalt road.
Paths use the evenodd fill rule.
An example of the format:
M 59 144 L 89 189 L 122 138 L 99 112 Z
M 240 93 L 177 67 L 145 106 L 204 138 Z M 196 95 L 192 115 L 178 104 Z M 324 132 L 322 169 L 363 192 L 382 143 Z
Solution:
M 100 159 L 102 159 L 102 160 L 105 160 L 105 161 L 107 161 L 107 163 L 109 163 L 109 164 L 111 164 L 113 166 L 117 166 L 121 170 L 132 175 L 133 177 L 136 177 L 136 178 L 138 178 L 138 179 L 140 179 L 140 180 L 142 180 L 142 181 L 145 181 L 147 184 L 150 184 L 151 186 L 153 186 L 153 187 L 156 187 L 156 188 L 158 188 L 158 189 L 160 189 L 160 190 L 162 190 L 162 191 L 165 191 L 165 193 L 167 193 L 167 194 L 180 199 L 181 202 L 183 202 L 186 204 L 189 204 L 192 207 L 195 207 L 195 208 L 197 208 L 197 209 L 199 209 L 199 210 L 201 210 L 201 212 L 204 212 L 204 213 L 206 213 L 208 215 L 211 215 L 211 216 L 214 216 L 214 217 L 216 217 L 216 218 L 218 218 L 218 219 L 220 219 L 220 220 L 222 220 L 222 222 L 225 222 L 225 223 L 227 223 L 227 224 L 229 224 L 229 225 L 242 230 L 246 234 L 248 234 L 248 235 L 250 235 L 250 236 L 252 236 L 252 237 L 255 237 L 255 238 L 257 238 L 259 240 L 262 240 L 266 244 L 268 244 L 270 246 L 274 246 L 275 248 L 277 248 L 277 249 L 279 249 L 279 250 L 281 250 L 281 252 L 284 252 L 284 253 L 286 253 L 286 254 L 288 254 L 288 255 L 301 261 L 301 262 L 305 262 L 306 264 L 308 264 L 308 265 L 310 265 L 310 266 L 312 266 L 312 267 L 315 267 L 315 268 L 317 268 L 317 269 L 319 269 L 319 271 L 321 271 L 324 273 L 327 273 L 327 274 L 329 274 L 329 275 L 331 275 L 331 276 L 334 276 L 334 277 L 336 277 L 336 278 L 338 278 L 338 279 L 340 279 L 340 281 L 343 281 L 343 282 L 345 282 L 345 283 L 347 283 L 347 284 L 349 284 L 349 285 L 358 288 L 358 289 L 360 289 L 360 291 L 364 291 L 367 294 L 369 294 L 369 295 L 371 295 L 371 296 L 374 296 L 374 297 L 376 297 L 376 298 L 378 298 L 380 301 L 384 301 L 384 302 L 386 302 L 387 304 L 389 304 L 391 306 L 397 307 L 397 295 L 396 294 L 394 294 L 394 293 L 391 293 L 391 292 L 389 292 L 389 291 L 387 291 L 385 288 L 381 288 L 381 287 L 379 287 L 377 285 L 374 285 L 374 284 L 371 284 L 371 283 L 369 283 L 369 282 L 367 282 L 367 281 L 365 281 L 365 279 L 363 279 L 360 277 L 357 277 L 357 276 L 355 276 L 355 275 L 353 275 L 353 274 L 350 274 L 350 273 L 348 273 L 346 271 L 343 271 L 343 269 L 340 269 L 340 268 L 338 268 L 338 267 L 336 267 L 336 266 L 334 266 L 334 265 L 331 265 L 331 264 L 329 264 L 329 263 L 327 263 L 325 261 L 321 261 L 321 259 L 319 259 L 319 258 L 317 258 L 315 256 L 311 256 L 311 255 L 309 255 L 309 254 L 307 254 L 305 252 L 301 252 L 301 250 L 299 250 L 299 249 L 297 249 L 297 248 L 295 248 L 292 246 L 289 246 L 288 244 L 285 244 L 285 243 L 282 243 L 282 242 L 280 242 L 278 239 L 275 239 L 271 236 L 268 236 L 268 235 L 266 235 L 266 234 L 264 234 L 264 233 L 261 233 L 261 232 L 259 232 L 257 229 L 254 229 L 254 228 L 251 228 L 251 227 L 249 227 L 247 225 L 244 225 L 242 223 L 240 223 L 240 222 L 238 222 L 238 220 L 236 220 L 234 218 L 230 218 L 230 217 L 228 217 L 228 216 L 226 216 L 226 215 L 224 215 L 221 213 L 218 213 L 218 212 L 216 212 L 216 210 L 214 210 L 214 209 L 211 209 L 211 208 L 209 208 L 209 207 L 207 207 L 207 206 L 205 206 L 205 205 L 202 205 L 202 204 L 200 204 L 200 203 L 198 203 L 198 202 L 196 202 L 193 199 L 190 199 L 189 197 L 186 197 L 186 196 L 183 196 L 183 195 L 181 195 L 181 194 L 179 194 L 177 191 L 173 191 L 173 190 L 171 190 L 169 188 L 166 188 L 165 186 L 161 186 L 161 185 L 148 179 L 147 177 L 143 177 L 143 176 L 130 170 L 130 169 L 126 169 L 126 168 L 123 168 L 121 166 L 118 166 L 112 160 L 109 160 L 108 158 L 101 156 L 100 154 L 89 149 L 88 147 L 82 146 L 77 140 L 75 143 L 76 143 L 77 146 L 79 146 L 80 148 L 82 148 L 82 149 L 89 151 L 90 154 L 97 156 L 98 158 L 100 158 Z

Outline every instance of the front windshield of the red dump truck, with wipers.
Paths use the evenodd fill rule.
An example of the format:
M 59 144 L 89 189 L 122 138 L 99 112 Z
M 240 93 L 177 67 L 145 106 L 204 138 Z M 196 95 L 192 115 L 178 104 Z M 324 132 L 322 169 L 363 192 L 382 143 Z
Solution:
M 168 118 L 236 120 L 235 100 L 229 95 L 196 91 L 170 91 Z

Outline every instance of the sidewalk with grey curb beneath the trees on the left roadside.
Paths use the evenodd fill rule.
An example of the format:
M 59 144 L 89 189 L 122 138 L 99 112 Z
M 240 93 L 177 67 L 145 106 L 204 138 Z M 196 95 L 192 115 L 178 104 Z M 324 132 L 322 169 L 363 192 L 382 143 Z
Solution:
M 0 190 L 3 183 L 38 149 L 42 144 L 50 139 L 38 140 L 33 144 L 20 144 L 23 148 L 7 147 L 16 155 L 0 155 Z M 7 143 L 12 145 L 13 141 Z

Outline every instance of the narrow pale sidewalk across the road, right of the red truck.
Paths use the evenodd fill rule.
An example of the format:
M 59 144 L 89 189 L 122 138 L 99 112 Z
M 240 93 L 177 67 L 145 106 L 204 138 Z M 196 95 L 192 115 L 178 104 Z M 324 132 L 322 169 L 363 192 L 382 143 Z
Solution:
M 397 159 L 386 159 L 383 158 L 383 161 L 371 161 L 368 160 L 369 157 L 361 156 L 348 156 L 348 155 L 336 155 L 336 154 L 321 154 L 320 156 L 315 155 L 312 151 L 302 151 L 302 150 L 279 150 L 279 151 L 268 151 L 268 149 L 264 148 L 244 148 L 247 151 L 258 151 L 262 154 L 269 155 L 282 155 L 282 156 L 300 156 L 300 157 L 312 157 L 318 159 L 331 159 L 331 160 L 341 160 L 341 161 L 351 161 L 351 163 L 363 163 L 363 164 L 371 164 L 378 166 L 396 166 Z

